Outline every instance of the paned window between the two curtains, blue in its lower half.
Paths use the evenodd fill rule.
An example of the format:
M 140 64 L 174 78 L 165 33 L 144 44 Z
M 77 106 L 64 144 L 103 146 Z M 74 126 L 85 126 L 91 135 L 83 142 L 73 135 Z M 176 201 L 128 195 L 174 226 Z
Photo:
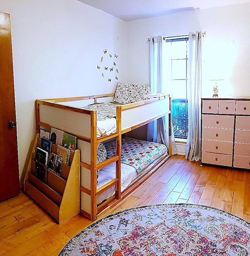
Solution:
M 172 122 L 175 138 L 187 138 L 187 67 L 188 36 L 164 38 L 166 84 L 171 84 Z

